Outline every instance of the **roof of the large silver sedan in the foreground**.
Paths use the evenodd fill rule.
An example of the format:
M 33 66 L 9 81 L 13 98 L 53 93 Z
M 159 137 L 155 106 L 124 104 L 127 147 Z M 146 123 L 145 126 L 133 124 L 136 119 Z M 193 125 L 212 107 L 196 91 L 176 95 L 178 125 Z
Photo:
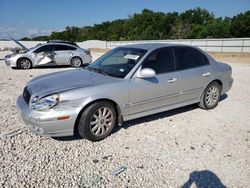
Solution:
M 193 46 L 189 46 L 189 45 L 175 44 L 175 43 L 141 43 L 141 44 L 129 44 L 129 45 L 121 46 L 121 47 L 139 48 L 139 49 L 144 49 L 144 50 L 154 50 L 154 49 L 157 49 L 157 48 L 173 47 L 173 46 L 193 47 Z

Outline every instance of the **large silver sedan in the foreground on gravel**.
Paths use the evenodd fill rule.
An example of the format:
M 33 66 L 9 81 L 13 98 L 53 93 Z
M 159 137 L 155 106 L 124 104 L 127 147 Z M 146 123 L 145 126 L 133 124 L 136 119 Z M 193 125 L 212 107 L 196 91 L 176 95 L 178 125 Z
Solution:
M 50 137 L 107 137 L 123 121 L 197 103 L 218 105 L 232 69 L 198 48 L 138 44 L 115 48 L 85 68 L 32 79 L 17 99 L 28 128 Z

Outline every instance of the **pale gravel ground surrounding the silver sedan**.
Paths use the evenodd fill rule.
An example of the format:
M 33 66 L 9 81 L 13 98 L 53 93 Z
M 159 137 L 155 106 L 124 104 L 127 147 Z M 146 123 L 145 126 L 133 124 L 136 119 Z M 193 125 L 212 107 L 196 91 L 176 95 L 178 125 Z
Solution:
M 1 61 L 0 187 L 249 187 L 250 64 L 230 64 L 233 88 L 214 110 L 192 105 L 129 121 L 92 143 L 37 136 L 15 106 L 32 77 L 69 68 L 12 70 Z

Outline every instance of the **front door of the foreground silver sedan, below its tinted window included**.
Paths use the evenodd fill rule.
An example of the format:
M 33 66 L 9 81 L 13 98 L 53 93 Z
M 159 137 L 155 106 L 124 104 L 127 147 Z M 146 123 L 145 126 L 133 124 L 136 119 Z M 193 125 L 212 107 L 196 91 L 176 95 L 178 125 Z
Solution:
M 130 80 L 130 114 L 154 110 L 177 103 L 179 74 L 176 72 L 172 48 L 153 51 L 139 69 L 151 68 L 153 78 L 134 76 Z

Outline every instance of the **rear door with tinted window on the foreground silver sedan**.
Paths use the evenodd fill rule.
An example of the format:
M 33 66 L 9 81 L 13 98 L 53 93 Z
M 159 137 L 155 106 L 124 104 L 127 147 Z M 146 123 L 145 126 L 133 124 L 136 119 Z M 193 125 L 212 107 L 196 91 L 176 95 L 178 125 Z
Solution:
M 198 102 L 211 81 L 212 70 L 207 57 L 193 47 L 174 47 L 177 70 L 180 73 L 178 103 Z

